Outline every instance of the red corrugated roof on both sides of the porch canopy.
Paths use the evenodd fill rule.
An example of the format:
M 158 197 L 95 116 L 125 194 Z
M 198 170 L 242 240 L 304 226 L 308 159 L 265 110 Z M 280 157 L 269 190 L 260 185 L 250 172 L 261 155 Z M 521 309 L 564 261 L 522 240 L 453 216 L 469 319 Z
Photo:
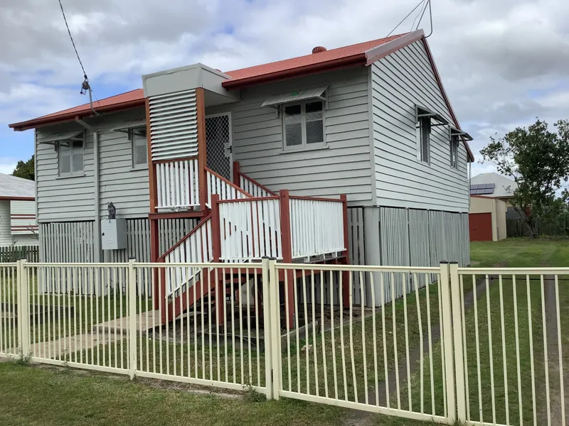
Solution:
M 314 72 L 323 72 L 339 67 L 365 65 L 365 52 L 367 50 L 388 43 L 402 35 L 404 34 L 392 35 L 388 38 L 378 38 L 377 40 L 326 50 L 325 52 L 312 53 L 310 55 L 299 56 L 298 58 L 290 58 L 270 62 L 268 64 L 256 65 L 254 67 L 242 68 L 240 70 L 228 71 L 225 72 L 225 74 L 230 75 L 231 79 L 225 81 L 223 86 L 229 89 L 242 87 L 246 84 L 282 80 Z M 98 112 L 119 111 L 121 109 L 142 105 L 144 105 L 144 92 L 142 89 L 132 90 L 93 102 L 93 108 Z M 86 116 L 90 113 L 90 104 L 83 104 L 36 119 L 9 124 L 9 126 L 14 130 L 33 129 L 38 126 L 73 121 L 78 116 Z

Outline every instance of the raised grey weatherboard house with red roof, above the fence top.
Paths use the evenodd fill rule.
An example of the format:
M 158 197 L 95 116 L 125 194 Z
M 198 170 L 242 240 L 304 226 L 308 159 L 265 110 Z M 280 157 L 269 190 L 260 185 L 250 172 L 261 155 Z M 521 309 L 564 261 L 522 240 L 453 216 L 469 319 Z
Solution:
M 470 138 L 422 31 L 142 84 L 10 124 L 43 261 L 469 263 Z

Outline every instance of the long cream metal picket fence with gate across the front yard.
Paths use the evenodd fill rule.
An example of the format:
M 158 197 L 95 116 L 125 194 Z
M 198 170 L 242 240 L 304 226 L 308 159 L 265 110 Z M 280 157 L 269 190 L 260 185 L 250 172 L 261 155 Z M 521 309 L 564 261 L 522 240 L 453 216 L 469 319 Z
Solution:
M 447 262 L 22 260 L 0 265 L 0 356 L 442 424 L 565 425 L 567 282 L 569 268 Z

